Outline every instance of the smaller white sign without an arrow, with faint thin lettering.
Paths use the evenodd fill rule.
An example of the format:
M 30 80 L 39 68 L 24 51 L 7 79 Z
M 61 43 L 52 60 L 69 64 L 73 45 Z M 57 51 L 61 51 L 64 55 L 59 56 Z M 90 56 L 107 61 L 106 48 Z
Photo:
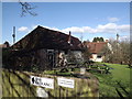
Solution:
M 74 79 L 66 79 L 66 78 L 57 78 L 57 82 L 59 86 L 74 88 L 75 81 Z

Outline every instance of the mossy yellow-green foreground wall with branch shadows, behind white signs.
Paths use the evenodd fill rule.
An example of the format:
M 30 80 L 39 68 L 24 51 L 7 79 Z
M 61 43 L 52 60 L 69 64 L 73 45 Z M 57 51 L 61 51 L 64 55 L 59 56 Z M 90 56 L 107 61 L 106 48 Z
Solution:
M 57 85 L 58 76 L 34 74 L 28 72 L 14 72 L 9 69 L 2 70 L 2 95 L 3 97 L 37 97 L 36 89 L 38 86 L 30 84 L 30 76 L 53 78 L 54 89 L 43 88 L 48 98 L 54 97 L 99 97 L 99 86 L 97 79 L 85 79 L 66 77 L 75 80 L 74 88 L 61 87 Z

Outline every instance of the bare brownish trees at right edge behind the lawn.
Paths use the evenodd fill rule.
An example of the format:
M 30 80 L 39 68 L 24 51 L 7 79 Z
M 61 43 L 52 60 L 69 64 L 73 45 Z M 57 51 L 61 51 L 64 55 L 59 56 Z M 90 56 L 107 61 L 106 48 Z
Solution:
M 105 62 L 118 63 L 118 64 L 130 64 L 130 42 L 111 40 L 110 45 L 112 50 L 106 46 L 101 54 L 105 55 Z

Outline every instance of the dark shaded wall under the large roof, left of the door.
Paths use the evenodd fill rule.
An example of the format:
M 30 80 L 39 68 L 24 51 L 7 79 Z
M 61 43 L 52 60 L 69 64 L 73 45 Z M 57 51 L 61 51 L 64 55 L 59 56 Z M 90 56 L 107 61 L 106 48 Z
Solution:
M 56 54 L 56 51 L 54 52 Z M 54 55 L 56 56 L 56 55 Z M 53 57 L 54 57 L 53 56 Z M 23 70 L 40 70 L 44 72 L 45 69 L 52 69 L 53 66 L 48 61 L 47 50 L 37 50 L 30 52 L 14 52 L 9 58 L 8 63 L 13 69 L 23 69 Z M 56 58 L 56 57 L 55 57 Z M 54 58 L 54 63 L 57 63 L 57 58 Z M 52 62 L 52 61 L 51 61 Z

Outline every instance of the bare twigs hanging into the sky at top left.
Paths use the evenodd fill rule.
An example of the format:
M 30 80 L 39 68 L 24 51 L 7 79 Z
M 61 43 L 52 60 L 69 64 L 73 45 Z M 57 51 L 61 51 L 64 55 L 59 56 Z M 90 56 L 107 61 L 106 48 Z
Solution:
M 19 3 L 20 3 L 21 7 L 22 7 L 22 14 L 21 14 L 21 16 L 25 16 L 26 13 L 29 13 L 29 14 L 31 14 L 31 15 L 33 15 L 33 16 L 37 15 L 37 13 L 35 13 L 35 12 L 32 11 L 32 10 L 35 9 L 36 7 L 33 7 L 33 6 L 31 6 L 29 2 L 22 2 L 22 1 L 20 1 L 20 0 L 19 0 Z

